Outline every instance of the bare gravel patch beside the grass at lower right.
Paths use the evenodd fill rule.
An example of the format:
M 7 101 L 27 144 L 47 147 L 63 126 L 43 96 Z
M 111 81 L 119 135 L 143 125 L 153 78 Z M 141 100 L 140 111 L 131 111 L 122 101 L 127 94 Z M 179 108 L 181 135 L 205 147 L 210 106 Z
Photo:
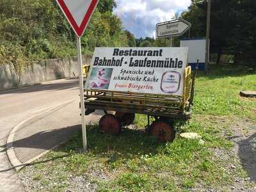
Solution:
M 236 117 L 228 120 L 217 117 L 217 121 L 220 126 L 228 124 L 232 136 L 230 132 L 224 132 L 224 136 L 234 143 L 231 150 L 214 149 L 214 155 L 225 162 L 225 170 L 234 175 L 233 184 L 225 190 L 256 191 L 256 122 Z M 241 175 L 237 175 L 237 170 Z M 218 191 L 223 191 L 223 188 Z

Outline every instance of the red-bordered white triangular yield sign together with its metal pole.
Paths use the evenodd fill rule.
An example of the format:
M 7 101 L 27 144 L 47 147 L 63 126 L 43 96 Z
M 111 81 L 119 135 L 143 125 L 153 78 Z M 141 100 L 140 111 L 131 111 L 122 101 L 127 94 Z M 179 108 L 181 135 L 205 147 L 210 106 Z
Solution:
M 70 26 L 74 30 L 77 36 L 77 61 L 79 67 L 79 87 L 80 87 L 80 102 L 81 102 L 81 120 L 83 130 L 83 148 L 86 150 L 86 122 L 84 116 L 84 84 L 83 84 L 83 72 L 82 72 L 82 51 L 81 51 L 81 36 L 83 36 L 84 30 L 88 26 L 88 23 L 92 17 L 99 0 L 76 0 L 65 1 L 56 0 L 60 6 L 62 12 L 67 18 Z

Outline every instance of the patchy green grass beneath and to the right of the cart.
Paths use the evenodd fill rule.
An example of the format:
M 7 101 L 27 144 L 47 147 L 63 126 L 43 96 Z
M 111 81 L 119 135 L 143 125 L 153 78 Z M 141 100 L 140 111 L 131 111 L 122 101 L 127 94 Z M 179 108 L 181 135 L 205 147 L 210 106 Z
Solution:
M 97 185 L 97 191 L 191 191 L 216 189 L 234 182 L 234 175 L 247 177 L 243 168 L 228 170 L 234 163 L 216 156 L 218 150 L 232 150 L 230 125 L 234 119 L 256 119 L 255 100 L 239 97 L 240 90 L 256 90 L 256 75 L 224 68 L 196 81 L 194 116 L 178 127 L 173 143 L 157 143 L 144 131 L 147 117 L 136 115 L 139 129 L 124 129 L 120 136 L 100 134 L 97 125 L 88 129 L 88 151 L 83 152 L 81 132 L 67 144 L 47 154 L 33 168 L 33 180 L 49 191 L 72 186 L 72 177 L 83 175 Z M 198 132 L 205 144 L 186 140 L 179 132 Z M 46 159 L 54 159 L 40 163 Z M 26 169 L 23 171 L 26 173 Z M 47 178 L 51 175 L 51 186 Z M 65 175 L 65 176 L 63 176 Z M 65 184 L 63 184 L 65 182 Z M 76 186 L 74 186 L 76 188 Z

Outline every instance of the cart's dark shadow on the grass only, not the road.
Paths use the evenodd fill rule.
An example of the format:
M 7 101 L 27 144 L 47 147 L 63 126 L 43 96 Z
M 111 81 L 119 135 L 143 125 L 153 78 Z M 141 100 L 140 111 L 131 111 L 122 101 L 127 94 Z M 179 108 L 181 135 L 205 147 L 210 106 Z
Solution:
M 117 163 L 134 159 L 142 155 L 158 154 L 165 144 L 158 143 L 154 136 L 148 135 L 145 129 L 125 127 L 118 136 L 101 134 L 98 125 L 91 125 L 87 130 L 88 152 L 92 156 L 107 158 L 106 163 Z M 83 149 L 81 132 L 57 151 L 80 153 Z

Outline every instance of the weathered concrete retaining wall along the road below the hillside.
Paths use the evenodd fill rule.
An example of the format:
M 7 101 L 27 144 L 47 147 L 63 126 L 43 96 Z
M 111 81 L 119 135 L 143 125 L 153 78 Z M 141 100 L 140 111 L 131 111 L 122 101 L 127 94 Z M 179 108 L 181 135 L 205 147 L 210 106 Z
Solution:
M 83 56 L 83 63 L 90 64 L 91 55 Z M 33 62 L 19 77 L 11 65 L 0 66 L 0 90 L 26 86 L 55 79 L 78 77 L 77 58 Z

